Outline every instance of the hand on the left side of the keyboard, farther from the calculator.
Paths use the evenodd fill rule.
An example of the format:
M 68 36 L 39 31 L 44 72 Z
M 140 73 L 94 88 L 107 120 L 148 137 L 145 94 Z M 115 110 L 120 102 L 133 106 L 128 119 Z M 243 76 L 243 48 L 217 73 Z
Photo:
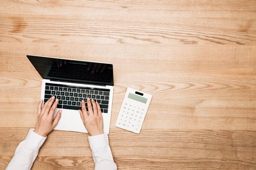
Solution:
M 55 119 L 52 120 L 53 114 L 58 105 L 58 99 L 56 99 L 55 102 L 54 102 L 54 99 L 55 97 L 53 96 L 44 104 L 43 107 L 42 107 L 43 100 L 39 102 L 38 120 L 34 130 L 34 132 L 37 133 L 38 135 L 41 135 L 44 137 L 47 136 L 52 131 L 52 129 L 58 124 L 58 121 L 61 119 L 62 110 L 59 110 L 58 113 L 56 114 Z

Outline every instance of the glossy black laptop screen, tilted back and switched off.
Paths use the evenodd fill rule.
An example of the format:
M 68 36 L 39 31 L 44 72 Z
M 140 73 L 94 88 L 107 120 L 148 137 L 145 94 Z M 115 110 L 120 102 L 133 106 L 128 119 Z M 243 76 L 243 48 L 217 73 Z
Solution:
M 113 85 L 113 65 L 51 57 L 27 56 L 43 79 Z

